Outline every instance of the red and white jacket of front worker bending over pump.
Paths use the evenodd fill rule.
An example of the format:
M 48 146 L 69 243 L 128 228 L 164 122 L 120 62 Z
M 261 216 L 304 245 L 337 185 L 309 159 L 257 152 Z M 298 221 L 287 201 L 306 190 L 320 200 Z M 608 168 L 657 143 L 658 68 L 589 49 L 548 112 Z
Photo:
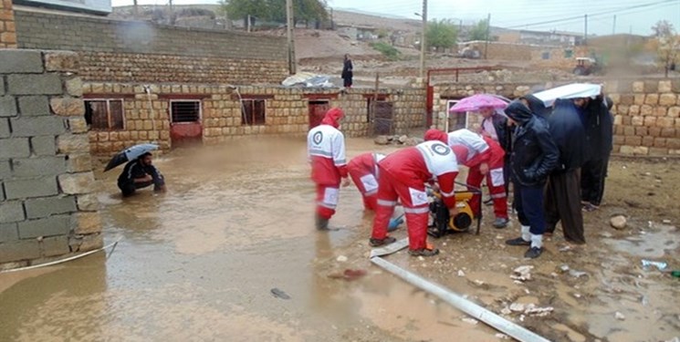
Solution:
M 437 181 L 446 207 L 455 207 L 458 164 L 454 152 L 445 144 L 425 141 L 415 147 L 397 150 L 378 164 L 382 171 L 409 187 L 422 188 L 424 182 Z

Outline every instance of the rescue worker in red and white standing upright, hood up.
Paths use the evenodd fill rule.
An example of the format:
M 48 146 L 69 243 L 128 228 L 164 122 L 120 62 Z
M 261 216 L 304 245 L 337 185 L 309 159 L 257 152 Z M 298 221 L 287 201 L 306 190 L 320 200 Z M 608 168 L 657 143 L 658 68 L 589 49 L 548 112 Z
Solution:
M 311 179 L 317 185 L 317 210 L 315 215 L 318 230 L 329 230 L 330 217 L 335 213 L 342 186 L 350 184 L 345 159 L 345 136 L 340 132 L 342 109 L 333 108 L 326 112 L 321 124 L 307 135 L 307 152 L 311 162 Z

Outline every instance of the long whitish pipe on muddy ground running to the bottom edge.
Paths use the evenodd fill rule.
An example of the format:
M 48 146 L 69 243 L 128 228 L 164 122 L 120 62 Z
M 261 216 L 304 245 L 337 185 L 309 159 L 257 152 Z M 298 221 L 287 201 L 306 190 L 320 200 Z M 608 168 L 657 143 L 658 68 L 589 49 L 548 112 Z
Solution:
M 482 306 L 477 306 L 475 303 L 470 302 L 462 296 L 456 295 L 454 292 L 449 291 L 446 287 L 431 282 L 420 275 L 415 275 L 412 272 L 406 271 L 396 264 L 388 262 L 380 256 L 371 258 L 371 263 L 381 266 L 385 270 L 399 276 L 411 285 L 438 296 L 446 303 L 465 312 L 467 315 L 473 316 L 487 325 L 495 327 L 498 331 L 501 331 L 510 337 L 514 337 L 519 341 L 549 342 L 549 339 L 541 337 L 525 327 L 518 326 L 507 319 L 498 316 L 489 310 L 486 310 L 486 308 Z

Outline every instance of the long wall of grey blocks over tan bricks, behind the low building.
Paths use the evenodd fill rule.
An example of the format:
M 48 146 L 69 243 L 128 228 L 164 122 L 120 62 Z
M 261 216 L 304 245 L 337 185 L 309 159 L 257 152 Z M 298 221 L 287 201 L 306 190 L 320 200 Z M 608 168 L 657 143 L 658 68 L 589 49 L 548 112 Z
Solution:
M 85 80 L 279 84 L 288 76 L 284 37 L 28 10 L 15 16 L 18 47 L 76 51 Z

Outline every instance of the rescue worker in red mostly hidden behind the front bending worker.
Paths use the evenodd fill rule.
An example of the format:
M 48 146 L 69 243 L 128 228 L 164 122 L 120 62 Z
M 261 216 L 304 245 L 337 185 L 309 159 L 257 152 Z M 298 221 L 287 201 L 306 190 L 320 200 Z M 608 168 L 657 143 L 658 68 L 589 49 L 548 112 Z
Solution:
M 382 161 L 382 153 L 361 153 L 347 164 L 351 180 L 361 192 L 364 210 L 375 211 L 378 201 L 378 161 Z

